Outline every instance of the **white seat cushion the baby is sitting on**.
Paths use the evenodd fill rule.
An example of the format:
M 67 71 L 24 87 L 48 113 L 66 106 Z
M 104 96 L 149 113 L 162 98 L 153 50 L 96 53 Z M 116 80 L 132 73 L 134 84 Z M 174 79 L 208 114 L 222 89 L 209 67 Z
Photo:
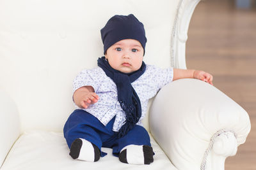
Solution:
M 13 145 L 2 169 L 168 169 L 177 170 L 156 141 L 150 136 L 154 148 L 154 162 L 150 165 L 124 164 L 112 155 L 112 149 L 102 148 L 108 153 L 98 162 L 85 162 L 72 159 L 63 134 L 60 132 L 25 132 Z

